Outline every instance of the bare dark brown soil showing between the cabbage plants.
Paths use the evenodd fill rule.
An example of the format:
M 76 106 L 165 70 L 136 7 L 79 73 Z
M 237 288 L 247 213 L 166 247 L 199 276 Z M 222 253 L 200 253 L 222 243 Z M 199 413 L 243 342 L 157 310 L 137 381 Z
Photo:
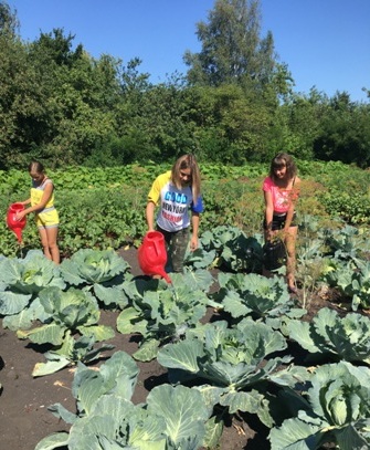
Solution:
M 131 273 L 140 275 L 135 248 L 121 250 L 119 254 L 130 264 Z M 299 294 L 298 294 L 299 295 Z M 310 302 L 310 320 L 318 308 L 328 305 L 325 296 L 317 296 Z M 209 310 L 211 318 L 213 310 Z M 102 323 L 116 327 L 118 313 L 102 312 Z M 2 322 L 2 321 L 1 321 Z M 115 350 L 133 354 L 138 348 L 138 336 L 121 335 L 109 341 Z M 107 354 L 107 356 L 109 356 Z M 68 430 L 63 420 L 55 418 L 47 407 L 60 402 L 71 411 L 75 411 L 75 401 L 71 394 L 73 369 L 65 368 L 56 374 L 33 378 L 31 373 L 36 363 L 44 357 L 27 341 L 18 339 L 14 332 L 0 327 L 0 449 L 34 450 L 36 443 L 52 432 Z M 139 380 L 135 389 L 133 402 L 144 402 L 150 389 L 168 383 L 167 370 L 156 360 L 137 362 L 140 369 Z M 267 450 L 265 429 L 255 416 L 234 416 L 226 422 L 220 450 Z M 81 449 L 83 450 L 83 449 Z

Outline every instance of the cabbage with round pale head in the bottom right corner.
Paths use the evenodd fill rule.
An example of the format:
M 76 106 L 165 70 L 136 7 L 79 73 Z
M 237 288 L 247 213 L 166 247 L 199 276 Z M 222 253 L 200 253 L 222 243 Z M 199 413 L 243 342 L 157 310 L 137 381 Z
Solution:
M 335 441 L 342 450 L 370 444 L 370 369 L 350 363 L 318 367 L 308 390 L 310 409 L 298 410 L 269 432 L 272 450 L 321 448 Z

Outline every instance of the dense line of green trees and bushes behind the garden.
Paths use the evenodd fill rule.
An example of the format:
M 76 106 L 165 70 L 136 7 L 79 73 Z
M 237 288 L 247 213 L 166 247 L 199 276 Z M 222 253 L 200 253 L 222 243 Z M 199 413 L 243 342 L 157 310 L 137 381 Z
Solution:
M 173 160 L 242 165 L 287 150 L 305 159 L 370 161 L 370 105 L 315 87 L 294 93 L 258 0 L 215 0 L 197 25 L 186 74 L 152 84 L 137 56 L 92 57 L 63 29 L 23 42 L 0 0 L 0 169 Z M 370 98 L 369 98 L 370 100 Z

